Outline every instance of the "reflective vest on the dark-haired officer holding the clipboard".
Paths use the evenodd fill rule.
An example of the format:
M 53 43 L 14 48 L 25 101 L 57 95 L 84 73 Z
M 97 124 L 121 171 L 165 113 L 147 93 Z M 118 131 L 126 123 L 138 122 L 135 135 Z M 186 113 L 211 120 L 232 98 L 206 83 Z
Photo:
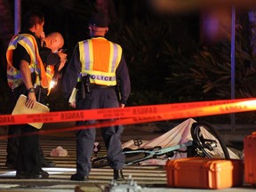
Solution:
M 20 75 L 20 70 L 14 68 L 12 65 L 12 53 L 13 50 L 17 48 L 17 45 L 20 44 L 23 46 L 30 56 L 30 63 L 28 67 L 30 68 L 30 72 L 36 73 L 36 84 L 41 85 L 44 88 L 49 87 L 49 78 L 47 79 L 47 75 L 44 69 L 44 63 L 40 58 L 36 38 L 29 34 L 18 34 L 12 37 L 12 40 L 8 46 L 6 52 L 6 60 L 7 60 L 7 81 L 9 86 L 14 89 L 22 84 L 22 78 Z M 52 75 L 50 75 L 52 76 Z

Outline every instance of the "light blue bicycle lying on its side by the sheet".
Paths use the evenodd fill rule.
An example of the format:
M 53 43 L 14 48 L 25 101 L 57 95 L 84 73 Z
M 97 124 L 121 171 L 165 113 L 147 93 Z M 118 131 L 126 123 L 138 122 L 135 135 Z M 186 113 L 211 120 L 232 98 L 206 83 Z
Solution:
M 216 128 L 207 122 L 192 124 L 190 128 L 192 140 L 168 148 L 156 146 L 154 148 L 124 148 L 125 165 L 137 164 L 158 156 L 174 156 L 174 153 L 187 153 L 187 156 L 201 156 L 207 158 L 230 159 L 228 148 L 220 138 Z M 137 143 L 140 141 L 136 140 Z M 141 143 L 140 143 L 141 144 Z M 186 148 L 186 149 L 184 149 Z M 108 157 L 100 156 L 92 159 L 92 167 L 108 166 Z

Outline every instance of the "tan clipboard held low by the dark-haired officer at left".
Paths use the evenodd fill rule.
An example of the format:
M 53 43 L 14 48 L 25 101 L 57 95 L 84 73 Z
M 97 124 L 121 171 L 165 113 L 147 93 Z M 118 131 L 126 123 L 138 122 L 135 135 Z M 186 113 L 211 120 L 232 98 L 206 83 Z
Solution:
M 37 114 L 37 113 L 48 113 L 50 108 L 36 101 L 34 108 L 27 108 L 25 106 L 27 96 L 21 94 L 20 98 L 17 100 L 15 107 L 12 110 L 12 115 L 20 114 Z M 29 123 L 31 126 L 34 126 L 36 129 L 41 129 L 44 123 Z

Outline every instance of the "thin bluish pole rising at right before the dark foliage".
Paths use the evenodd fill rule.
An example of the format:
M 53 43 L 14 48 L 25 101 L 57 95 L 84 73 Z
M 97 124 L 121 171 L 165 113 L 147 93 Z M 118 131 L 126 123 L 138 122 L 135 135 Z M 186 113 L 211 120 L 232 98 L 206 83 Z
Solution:
M 235 67 L 236 67 L 236 7 L 232 6 L 231 18 L 231 100 L 236 97 L 235 93 Z M 231 132 L 236 130 L 236 116 L 235 113 L 231 114 Z

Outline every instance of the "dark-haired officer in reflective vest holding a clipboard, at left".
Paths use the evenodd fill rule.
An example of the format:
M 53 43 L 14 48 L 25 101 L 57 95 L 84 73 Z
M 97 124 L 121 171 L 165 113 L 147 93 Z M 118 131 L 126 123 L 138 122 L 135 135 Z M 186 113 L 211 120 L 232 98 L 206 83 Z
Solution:
M 12 107 L 14 108 L 20 94 L 27 96 L 27 108 L 34 108 L 38 98 L 38 87 L 48 88 L 44 62 L 40 57 L 41 39 L 44 35 L 44 15 L 41 12 L 30 11 L 23 20 L 23 30 L 12 37 L 6 52 L 7 80 L 12 89 Z M 52 53 L 53 54 L 53 53 Z M 35 87 L 36 86 L 36 87 Z M 43 97 L 41 97 L 43 98 Z M 17 159 L 12 159 L 19 179 L 48 178 L 49 174 L 42 170 L 42 156 L 40 154 L 38 134 L 28 135 L 38 130 L 29 124 L 9 126 L 8 134 L 18 133 L 26 136 L 20 137 L 19 144 L 16 138 L 8 138 L 7 161 L 10 148 L 18 146 Z M 17 148 L 17 147 L 16 147 Z M 16 157 L 16 155 L 12 156 Z M 6 164 L 8 163 L 6 161 Z M 16 164 L 15 164 L 16 163 Z

